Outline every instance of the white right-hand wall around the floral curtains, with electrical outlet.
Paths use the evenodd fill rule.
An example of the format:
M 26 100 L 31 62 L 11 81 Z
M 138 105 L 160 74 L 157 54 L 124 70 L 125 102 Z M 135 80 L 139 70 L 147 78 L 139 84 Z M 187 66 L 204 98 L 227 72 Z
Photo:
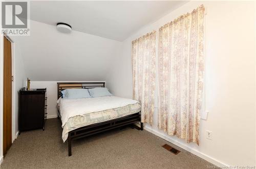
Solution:
M 204 4 L 206 15 L 206 109 L 200 146 L 168 136 L 157 128 L 157 107 L 151 131 L 217 165 L 255 165 L 254 2 L 189 2 L 140 29 L 122 44 L 107 83 L 113 93 L 132 97 L 131 41 Z M 158 35 L 157 35 L 158 36 Z M 158 39 L 158 37 L 157 37 Z M 213 139 L 205 137 L 212 131 Z M 239 148 L 241 146 L 241 148 Z

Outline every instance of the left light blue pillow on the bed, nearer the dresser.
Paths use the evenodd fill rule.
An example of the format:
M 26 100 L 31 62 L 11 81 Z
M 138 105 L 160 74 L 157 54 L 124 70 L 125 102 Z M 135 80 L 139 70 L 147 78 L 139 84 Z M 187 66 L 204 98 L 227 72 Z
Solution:
M 65 89 L 61 93 L 64 99 L 92 98 L 88 89 Z

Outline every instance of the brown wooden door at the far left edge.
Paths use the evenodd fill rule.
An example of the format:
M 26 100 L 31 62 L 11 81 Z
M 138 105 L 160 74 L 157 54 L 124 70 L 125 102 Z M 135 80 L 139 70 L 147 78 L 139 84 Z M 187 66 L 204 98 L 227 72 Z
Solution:
M 12 144 L 12 52 L 11 42 L 4 37 L 4 140 L 3 154 Z

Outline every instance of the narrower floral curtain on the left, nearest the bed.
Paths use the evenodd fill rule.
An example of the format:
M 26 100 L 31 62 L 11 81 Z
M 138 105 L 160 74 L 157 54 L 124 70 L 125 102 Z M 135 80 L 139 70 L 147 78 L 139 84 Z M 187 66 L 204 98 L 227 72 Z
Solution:
M 133 98 L 141 103 L 141 122 L 153 124 L 156 31 L 132 42 Z

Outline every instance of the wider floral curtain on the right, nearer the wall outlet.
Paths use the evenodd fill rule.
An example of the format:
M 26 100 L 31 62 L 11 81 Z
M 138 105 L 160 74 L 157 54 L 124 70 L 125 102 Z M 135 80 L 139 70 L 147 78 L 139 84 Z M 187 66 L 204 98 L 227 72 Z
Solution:
M 204 7 L 159 29 L 158 127 L 199 145 L 204 76 Z

